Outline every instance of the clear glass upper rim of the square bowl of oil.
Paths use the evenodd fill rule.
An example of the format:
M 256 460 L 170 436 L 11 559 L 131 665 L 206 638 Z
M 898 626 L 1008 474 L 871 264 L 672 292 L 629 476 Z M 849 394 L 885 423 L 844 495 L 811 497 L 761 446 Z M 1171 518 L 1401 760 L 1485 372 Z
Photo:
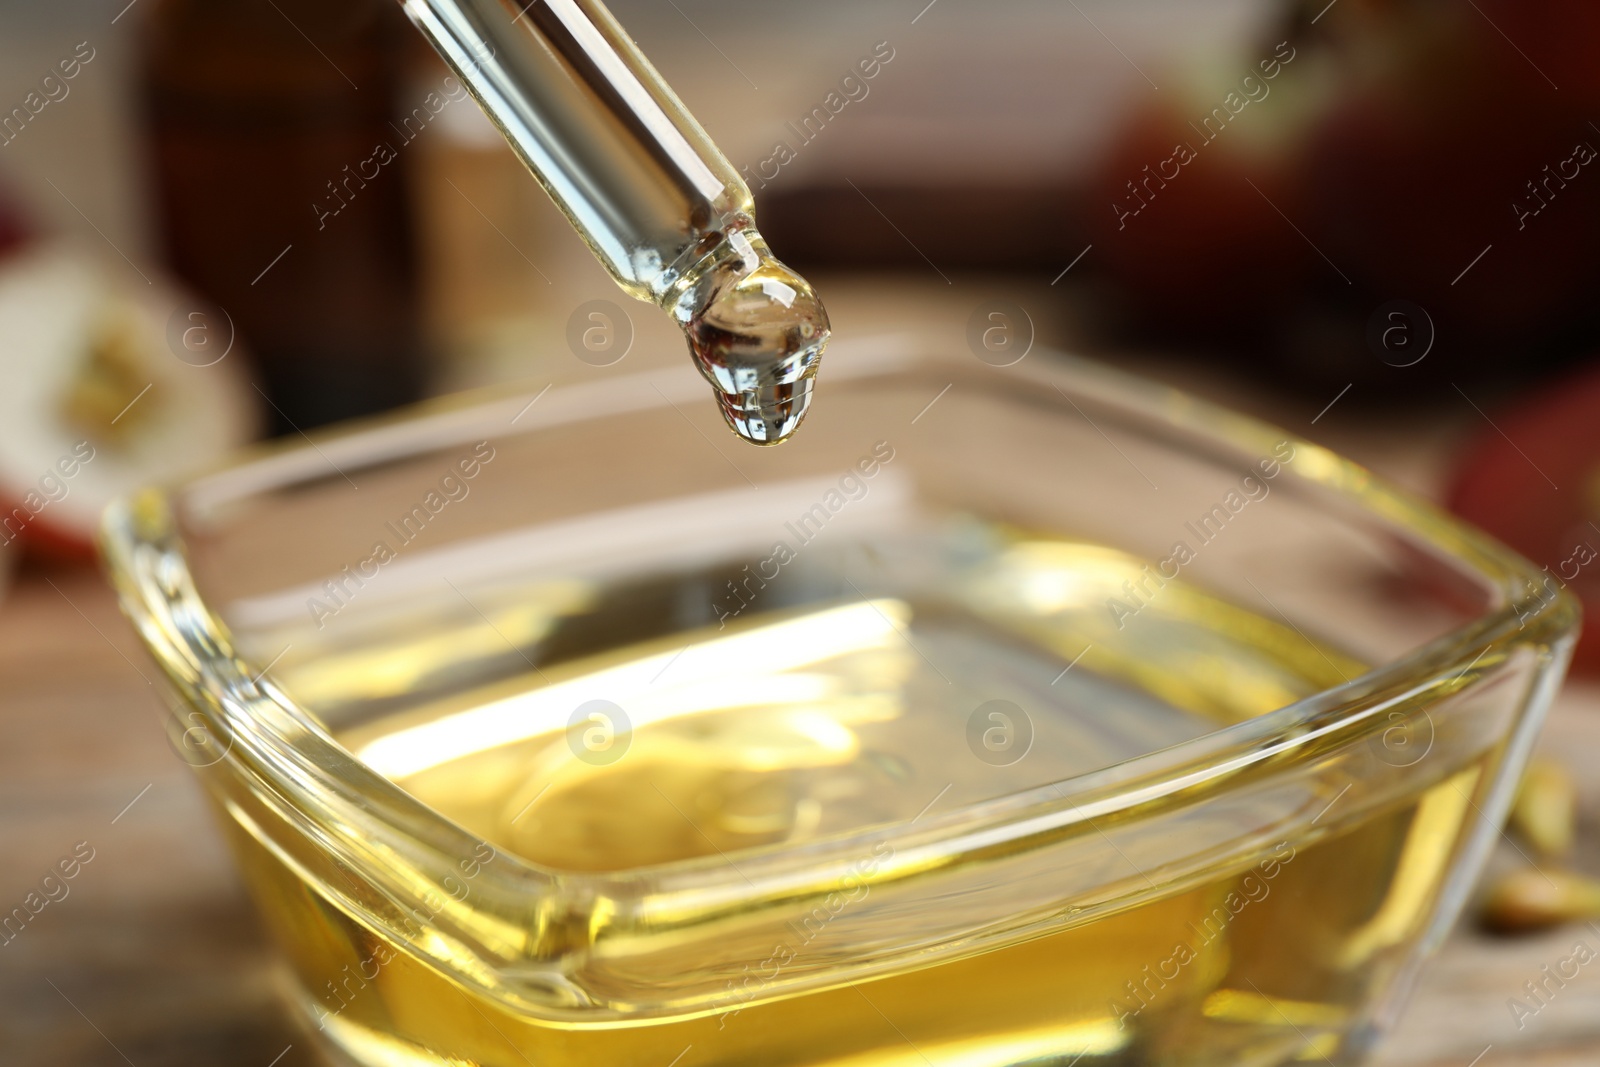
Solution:
M 1214 781 L 1336 729 L 1362 728 L 1378 733 L 1387 725 L 1386 709 L 1450 677 L 1459 678 L 1496 646 L 1510 649 L 1542 643 L 1554 646 L 1558 657 L 1570 654 L 1579 621 L 1576 598 L 1558 589 L 1554 597 L 1547 600 L 1539 597 L 1536 606 L 1528 608 L 1518 597 L 1526 589 L 1538 587 L 1546 574 L 1462 520 L 1389 485 L 1320 445 L 1251 416 L 1082 357 L 1042 349 L 1035 355 L 1038 358 L 1027 366 L 994 368 L 971 357 L 930 349 L 923 339 L 888 334 L 867 338 L 853 346 L 835 342 L 826 381 L 922 374 L 938 366 L 938 374 L 930 374 L 930 381 L 933 378 L 963 381 L 989 394 L 1010 390 L 1010 395 L 1019 395 L 1018 390 L 1027 390 L 1024 398 L 1037 402 L 1043 395 L 1062 411 L 1069 410 L 1067 405 L 1077 408 L 1074 402 L 1077 397 L 1102 410 L 1122 411 L 1131 419 L 1210 442 L 1219 451 L 1240 456 L 1267 454 L 1274 443 L 1286 440 L 1294 448 L 1296 462 L 1285 464 L 1283 475 L 1309 488 L 1330 491 L 1386 525 L 1405 530 L 1416 541 L 1427 542 L 1440 555 L 1501 590 L 1501 603 L 1453 632 L 1342 685 L 1254 718 L 1219 726 L 1178 745 L 1059 782 L 973 801 L 925 819 L 918 816 L 909 822 L 858 827 L 803 843 L 739 849 L 738 869 L 726 856 L 707 856 L 616 872 L 571 872 L 506 854 L 504 864 L 483 867 L 480 877 L 486 875 L 485 885 L 502 893 L 563 886 L 582 896 L 603 893 L 618 899 L 637 897 L 642 893 L 670 894 L 678 889 L 704 888 L 707 883 L 723 883 L 728 894 L 726 905 L 736 907 L 746 896 L 746 888 L 755 893 L 760 885 L 760 894 L 766 896 L 778 883 L 790 886 L 814 883 L 822 877 L 824 867 L 843 862 L 843 857 L 859 856 L 862 848 L 878 841 L 891 841 L 906 849 L 930 845 L 962 849 L 962 841 L 992 843 L 997 838 L 1013 840 L 1059 830 L 1080 819 L 1125 811 Z M 354 829 L 392 837 L 392 830 L 403 827 L 411 837 L 427 838 L 427 846 L 422 849 L 427 854 L 467 856 L 480 845 L 475 835 L 354 760 L 322 729 L 315 717 L 301 710 L 270 681 L 270 675 L 253 673 L 254 665 L 235 653 L 226 624 L 200 601 L 192 585 L 187 593 L 178 587 L 182 582 L 170 587 L 166 593 L 157 589 L 160 582 L 154 581 L 152 568 L 160 568 L 157 560 L 160 553 L 150 555 L 150 550 L 165 544 L 168 553 L 181 552 L 176 545 L 174 501 L 186 498 L 198 512 L 205 512 L 266 490 L 326 478 L 328 466 L 333 464 L 330 453 L 350 462 L 395 461 L 422 454 L 445 443 L 466 440 L 461 437 L 462 430 L 485 422 L 488 413 L 499 418 L 507 411 L 530 411 L 541 398 L 536 418 L 522 426 L 518 435 L 584 418 L 610 418 L 619 406 L 626 410 L 629 403 L 635 408 L 650 408 L 674 403 L 680 397 L 704 400 L 704 382 L 690 368 L 651 370 L 626 379 L 608 378 L 592 384 L 546 386 L 544 390 L 533 390 L 526 382 L 517 382 L 424 402 L 376 419 L 341 424 L 314 432 L 302 442 L 258 445 L 181 486 L 146 490 L 114 502 L 102 520 L 102 558 L 120 592 L 123 611 L 150 646 L 163 673 L 181 691 L 194 693 L 198 685 L 195 677 L 211 678 L 213 686 L 214 680 L 222 680 L 229 688 L 226 694 L 211 694 L 214 720 L 208 721 L 208 726 L 230 739 L 248 733 L 254 742 L 272 749 L 267 758 L 259 752 L 246 758 L 246 750 L 230 742 L 222 761 L 234 773 L 272 781 L 282 774 L 283 766 L 288 766 L 283 763 L 288 760 L 298 776 L 309 776 L 307 781 L 317 795 L 338 808 L 341 819 Z M 1059 405 L 1050 395 L 1053 392 L 1059 394 L 1066 405 Z M 605 405 L 595 403 L 600 395 L 605 397 Z M 822 402 L 826 403 L 826 395 Z M 1309 462 L 1301 462 L 1302 458 Z M 173 603 L 184 595 L 192 600 L 187 606 L 200 629 L 178 648 L 154 619 L 163 611 L 170 613 Z M 198 675 L 178 677 L 184 669 L 174 673 L 168 661 L 198 667 Z M 1475 683 L 1477 677 L 1467 685 Z M 232 697 L 234 712 L 227 712 L 230 701 L 224 697 Z M 251 704 L 253 701 L 266 701 L 274 712 L 286 717 L 283 721 L 294 725 L 296 733 L 302 737 L 317 737 L 318 747 L 342 753 L 342 760 L 310 760 L 304 752 L 294 752 L 296 745 L 288 739 L 288 733 L 272 725 L 278 721 L 277 713 L 264 720 L 240 718 L 238 707 L 253 705 L 256 710 L 264 707 Z M 234 718 L 224 718 L 224 712 Z M 347 803 L 352 787 L 376 790 L 379 801 Z M 426 827 L 427 833 L 418 835 L 419 827 Z

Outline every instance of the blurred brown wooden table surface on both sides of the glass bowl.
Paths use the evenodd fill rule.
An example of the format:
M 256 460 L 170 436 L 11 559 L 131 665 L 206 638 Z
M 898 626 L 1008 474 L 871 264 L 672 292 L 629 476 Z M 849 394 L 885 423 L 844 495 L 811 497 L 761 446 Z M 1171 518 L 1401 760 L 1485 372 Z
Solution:
M 21 904 L 80 841 L 94 849 L 69 894 L 0 945 L 0 1064 L 318 1064 L 278 1005 L 283 976 L 198 785 L 158 728 L 154 680 L 96 573 L 30 574 L 0 603 L 0 905 Z M 1568 686 L 1544 744 L 1586 782 L 1594 859 L 1600 691 Z M 1600 965 L 1522 1029 L 1507 1008 L 1579 937 L 1600 947 L 1600 929 L 1582 926 L 1458 931 L 1374 1062 L 1600 1064 Z

